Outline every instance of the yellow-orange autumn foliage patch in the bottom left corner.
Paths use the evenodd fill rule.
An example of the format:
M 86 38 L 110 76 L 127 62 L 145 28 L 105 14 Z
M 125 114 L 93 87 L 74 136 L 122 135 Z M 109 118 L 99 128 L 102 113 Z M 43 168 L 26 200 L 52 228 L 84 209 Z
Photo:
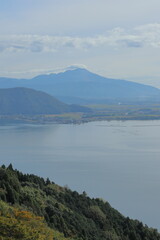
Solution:
M 23 208 L 0 201 L 1 240 L 72 240 L 49 228 L 43 217 Z

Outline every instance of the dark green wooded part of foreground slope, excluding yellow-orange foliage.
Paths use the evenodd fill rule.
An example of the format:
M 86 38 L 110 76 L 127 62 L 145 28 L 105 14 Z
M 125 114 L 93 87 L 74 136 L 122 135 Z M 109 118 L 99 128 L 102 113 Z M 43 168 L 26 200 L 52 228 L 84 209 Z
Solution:
M 35 215 L 44 217 L 50 228 L 63 233 L 67 238 L 160 240 L 160 234 L 155 229 L 144 226 L 138 220 L 124 217 L 108 202 L 91 199 L 85 192 L 79 194 L 60 187 L 49 179 L 22 174 L 13 170 L 11 165 L 0 168 L 0 199 L 12 206 L 19 206 L 21 210 L 32 211 Z M 0 211 L 2 212 L 1 205 Z

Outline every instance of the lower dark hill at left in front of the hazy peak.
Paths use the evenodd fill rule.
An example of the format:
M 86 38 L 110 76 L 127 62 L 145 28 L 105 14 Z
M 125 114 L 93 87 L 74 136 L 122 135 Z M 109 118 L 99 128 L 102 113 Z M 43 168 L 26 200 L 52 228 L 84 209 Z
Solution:
M 89 108 L 67 105 L 47 93 L 33 89 L 0 89 L 0 115 L 61 114 L 88 111 L 90 111 Z

